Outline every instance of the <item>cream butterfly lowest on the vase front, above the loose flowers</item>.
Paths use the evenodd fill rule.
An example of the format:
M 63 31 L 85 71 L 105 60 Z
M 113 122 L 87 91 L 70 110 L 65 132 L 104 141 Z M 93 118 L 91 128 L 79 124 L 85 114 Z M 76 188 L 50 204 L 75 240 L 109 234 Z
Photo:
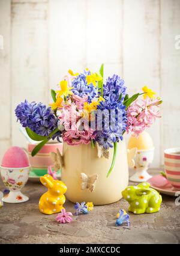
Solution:
M 92 192 L 95 188 L 95 181 L 98 179 L 98 174 L 88 176 L 87 174 L 82 172 L 80 174 L 80 178 L 82 180 L 81 189 L 89 189 Z

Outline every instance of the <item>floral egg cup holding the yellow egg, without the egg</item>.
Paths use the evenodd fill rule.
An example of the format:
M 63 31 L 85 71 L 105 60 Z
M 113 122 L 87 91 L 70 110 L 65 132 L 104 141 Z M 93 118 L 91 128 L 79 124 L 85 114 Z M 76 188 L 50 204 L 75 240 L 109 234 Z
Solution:
M 130 181 L 144 182 L 149 180 L 152 176 L 148 174 L 148 168 L 154 159 L 154 148 L 148 150 L 137 150 L 134 159 L 134 171 L 136 173 L 130 177 Z

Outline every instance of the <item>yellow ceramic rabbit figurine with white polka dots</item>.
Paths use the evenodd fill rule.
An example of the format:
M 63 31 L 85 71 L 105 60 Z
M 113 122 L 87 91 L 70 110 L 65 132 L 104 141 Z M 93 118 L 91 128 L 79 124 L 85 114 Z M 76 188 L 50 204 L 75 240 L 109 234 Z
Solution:
M 60 180 L 54 180 L 49 174 L 40 177 L 40 181 L 48 188 L 48 191 L 41 195 L 39 201 L 40 212 L 47 215 L 61 212 L 64 209 L 64 193 L 67 190 L 67 186 Z

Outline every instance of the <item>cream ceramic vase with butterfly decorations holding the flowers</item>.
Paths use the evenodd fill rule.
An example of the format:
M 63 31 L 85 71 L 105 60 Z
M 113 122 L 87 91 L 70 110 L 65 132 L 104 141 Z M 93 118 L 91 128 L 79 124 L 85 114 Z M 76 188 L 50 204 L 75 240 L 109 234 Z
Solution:
M 112 163 L 110 157 L 98 157 L 97 147 L 91 144 L 67 145 L 62 153 L 61 180 L 67 186 L 65 197 L 73 203 L 92 201 L 95 205 L 111 204 L 122 198 L 122 190 L 128 185 L 128 160 L 125 141 L 118 143 L 115 166 L 107 178 Z

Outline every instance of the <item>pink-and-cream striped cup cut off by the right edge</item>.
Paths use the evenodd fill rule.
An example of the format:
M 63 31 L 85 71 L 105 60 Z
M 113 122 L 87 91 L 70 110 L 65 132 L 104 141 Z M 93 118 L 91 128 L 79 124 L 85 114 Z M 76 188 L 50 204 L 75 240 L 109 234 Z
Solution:
M 164 150 L 164 168 L 167 180 L 180 190 L 180 147 Z

